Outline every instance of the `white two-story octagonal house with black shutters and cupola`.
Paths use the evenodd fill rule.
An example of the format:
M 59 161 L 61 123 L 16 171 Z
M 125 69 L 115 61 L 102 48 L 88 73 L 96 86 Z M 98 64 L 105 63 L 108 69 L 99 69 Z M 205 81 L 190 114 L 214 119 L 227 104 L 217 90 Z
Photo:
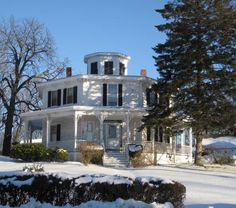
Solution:
M 42 129 L 46 146 L 65 148 L 75 160 L 78 144 L 94 141 L 104 147 L 107 159 L 127 159 L 128 145 L 142 144 L 147 152 L 157 150 L 159 162 L 191 161 L 191 129 L 176 138 L 164 137 L 158 128 L 138 131 L 148 104 L 156 100 L 148 90 L 155 80 L 146 70 L 128 75 L 129 60 L 115 52 L 89 54 L 86 75 L 72 76 L 67 68 L 65 78 L 38 84 L 42 109 L 22 114 L 28 137 Z

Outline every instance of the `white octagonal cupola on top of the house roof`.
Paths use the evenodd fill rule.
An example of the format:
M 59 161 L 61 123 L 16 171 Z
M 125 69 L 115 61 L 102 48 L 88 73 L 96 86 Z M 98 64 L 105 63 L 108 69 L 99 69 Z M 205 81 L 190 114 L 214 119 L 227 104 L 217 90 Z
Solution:
M 84 57 L 87 74 L 127 75 L 130 57 L 116 52 L 98 52 Z

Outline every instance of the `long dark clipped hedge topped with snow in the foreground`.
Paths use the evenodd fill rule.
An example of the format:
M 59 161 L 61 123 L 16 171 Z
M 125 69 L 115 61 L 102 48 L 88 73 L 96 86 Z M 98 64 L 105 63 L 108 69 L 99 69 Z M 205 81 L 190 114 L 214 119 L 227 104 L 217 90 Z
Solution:
M 56 206 L 122 198 L 146 203 L 171 202 L 174 207 L 180 208 L 186 196 L 186 188 L 181 183 L 154 177 L 131 179 L 118 175 L 83 175 L 65 179 L 42 174 L 0 176 L 0 180 L 8 181 L 0 183 L 0 204 L 14 207 L 27 203 L 33 197 Z

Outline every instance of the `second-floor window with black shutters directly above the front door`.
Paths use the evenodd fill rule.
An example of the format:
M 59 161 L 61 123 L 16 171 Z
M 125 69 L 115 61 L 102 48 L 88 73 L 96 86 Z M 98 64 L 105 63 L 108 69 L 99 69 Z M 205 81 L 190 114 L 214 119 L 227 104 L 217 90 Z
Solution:
M 122 84 L 103 84 L 103 106 L 122 106 Z

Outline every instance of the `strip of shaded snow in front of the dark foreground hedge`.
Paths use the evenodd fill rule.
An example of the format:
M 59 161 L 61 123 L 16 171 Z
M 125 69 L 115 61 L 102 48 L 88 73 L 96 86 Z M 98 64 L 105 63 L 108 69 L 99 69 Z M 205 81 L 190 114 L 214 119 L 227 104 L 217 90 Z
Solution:
M 9 208 L 9 206 L 1 206 L 1 208 Z M 35 199 L 31 198 L 27 204 L 21 205 L 19 208 L 59 208 L 61 206 L 53 206 L 49 203 L 40 203 Z M 82 203 L 79 206 L 72 206 L 67 204 L 63 206 L 65 208 L 174 208 L 173 205 L 169 202 L 165 204 L 157 204 L 155 202 L 151 204 L 147 204 L 141 201 L 136 201 L 134 199 L 123 200 L 117 199 L 114 202 L 101 202 L 101 201 L 88 201 L 86 203 Z

